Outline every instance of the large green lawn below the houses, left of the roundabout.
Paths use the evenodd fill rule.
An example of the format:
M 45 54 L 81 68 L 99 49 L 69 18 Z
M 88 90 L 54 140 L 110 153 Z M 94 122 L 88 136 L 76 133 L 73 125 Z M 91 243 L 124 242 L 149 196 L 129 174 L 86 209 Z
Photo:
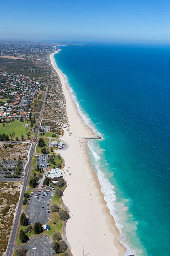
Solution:
M 29 127 L 24 127 L 25 124 L 29 124 Z M 29 121 L 27 123 L 26 121 L 20 122 L 19 120 L 15 120 L 12 123 L 6 123 L 5 126 L 3 126 L 3 123 L 0 123 L 0 134 L 8 134 L 9 139 L 11 139 L 10 133 L 12 134 L 13 132 L 15 132 L 13 140 L 15 140 L 16 136 L 18 136 L 18 139 L 21 140 L 22 134 L 24 135 L 24 139 L 27 140 L 28 138 L 26 133 L 30 132 L 29 139 L 32 139 L 35 135 L 35 132 L 31 131 L 30 124 L 31 123 Z

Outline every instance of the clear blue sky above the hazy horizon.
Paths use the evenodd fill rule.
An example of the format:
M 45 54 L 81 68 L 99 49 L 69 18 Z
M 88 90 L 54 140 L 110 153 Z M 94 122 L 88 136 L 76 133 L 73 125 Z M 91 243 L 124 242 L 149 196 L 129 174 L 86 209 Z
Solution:
M 170 42 L 169 0 L 1 0 L 0 38 Z

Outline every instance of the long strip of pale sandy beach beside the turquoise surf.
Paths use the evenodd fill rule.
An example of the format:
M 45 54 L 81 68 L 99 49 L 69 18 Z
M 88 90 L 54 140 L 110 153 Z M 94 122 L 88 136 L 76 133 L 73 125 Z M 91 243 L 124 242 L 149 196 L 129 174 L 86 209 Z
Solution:
M 94 133 L 80 116 L 64 76 L 56 68 L 54 54 L 50 54 L 50 61 L 62 82 L 70 125 L 64 128 L 62 140 L 68 143 L 68 148 L 61 150 L 61 155 L 66 163 L 64 179 L 68 185 L 63 201 L 71 216 L 66 224 L 71 252 L 74 256 L 87 253 L 91 256 L 124 255 L 125 248 L 118 240 L 119 230 L 109 213 L 98 178 L 88 159 L 87 139 L 82 138 L 93 137 Z

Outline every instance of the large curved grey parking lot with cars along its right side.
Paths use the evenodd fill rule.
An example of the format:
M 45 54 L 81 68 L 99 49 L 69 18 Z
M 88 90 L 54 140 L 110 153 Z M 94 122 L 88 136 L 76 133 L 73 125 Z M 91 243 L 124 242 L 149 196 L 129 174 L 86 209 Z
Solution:
M 53 194 L 54 190 L 51 187 L 43 190 L 37 189 L 31 194 L 28 210 L 25 212 L 31 225 L 34 225 L 37 221 L 42 225 L 48 222 L 50 219 L 50 201 Z

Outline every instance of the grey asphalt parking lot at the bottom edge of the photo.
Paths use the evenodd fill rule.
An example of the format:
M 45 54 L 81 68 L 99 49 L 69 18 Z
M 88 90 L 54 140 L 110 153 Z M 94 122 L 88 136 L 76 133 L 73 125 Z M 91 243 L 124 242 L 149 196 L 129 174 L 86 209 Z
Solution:
M 51 238 L 47 238 L 44 235 L 33 237 L 27 243 L 27 255 L 29 256 L 51 256 L 52 247 L 51 247 Z M 33 248 L 37 248 L 33 250 Z

